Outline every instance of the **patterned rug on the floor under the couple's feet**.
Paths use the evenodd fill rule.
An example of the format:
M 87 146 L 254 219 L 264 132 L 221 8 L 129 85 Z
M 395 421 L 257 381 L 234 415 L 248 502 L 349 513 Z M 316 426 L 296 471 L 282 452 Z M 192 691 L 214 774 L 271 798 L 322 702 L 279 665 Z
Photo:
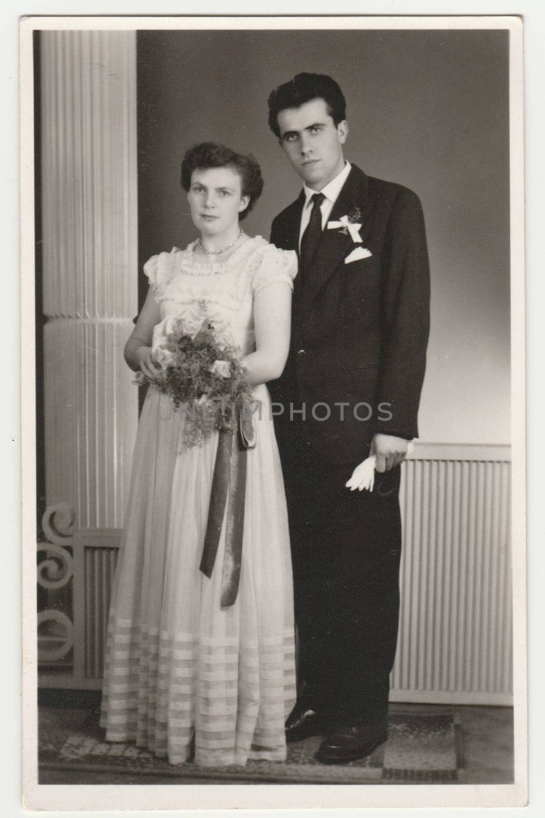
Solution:
M 74 773 L 110 773 L 119 776 L 151 775 L 172 783 L 279 783 L 279 784 L 454 784 L 463 769 L 462 727 L 452 714 L 415 715 L 393 712 L 388 740 L 360 761 L 323 765 L 315 752 L 321 739 L 315 736 L 288 745 L 288 759 L 279 762 L 248 762 L 244 767 L 199 767 L 192 762 L 172 765 L 134 744 L 105 742 L 96 726 L 96 715 L 59 708 L 40 711 L 40 770 L 66 771 L 66 783 Z M 78 721 L 80 723 L 78 723 Z M 57 776 L 58 781 L 58 776 Z

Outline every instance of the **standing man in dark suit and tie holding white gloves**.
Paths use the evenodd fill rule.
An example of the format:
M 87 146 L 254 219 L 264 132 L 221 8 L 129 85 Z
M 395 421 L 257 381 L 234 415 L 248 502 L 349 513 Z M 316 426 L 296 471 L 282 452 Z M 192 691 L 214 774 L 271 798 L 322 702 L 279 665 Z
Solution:
M 288 364 L 270 384 L 299 637 L 286 736 L 322 735 L 319 761 L 345 763 L 387 736 L 400 463 L 418 435 L 429 330 L 426 234 L 412 191 L 345 160 L 346 102 L 333 79 L 280 85 L 269 124 L 304 182 L 270 234 L 299 256 Z M 373 454 L 373 491 L 351 490 Z

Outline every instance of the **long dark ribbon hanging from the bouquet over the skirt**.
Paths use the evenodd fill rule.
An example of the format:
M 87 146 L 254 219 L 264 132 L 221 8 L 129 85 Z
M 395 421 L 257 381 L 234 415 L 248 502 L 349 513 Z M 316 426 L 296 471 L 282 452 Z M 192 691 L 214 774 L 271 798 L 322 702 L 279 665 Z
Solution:
M 230 605 L 234 605 L 239 592 L 247 453 L 248 448 L 253 448 L 255 445 L 256 431 L 252 415 L 250 414 L 248 418 L 245 411 L 240 413 L 237 431 L 233 432 L 232 429 L 221 431 L 217 443 L 208 524 L 199 569 L 208 578 L 212 577 L 227 505 L 226 551 L 221 576 L 221 608 L 229 608 Z

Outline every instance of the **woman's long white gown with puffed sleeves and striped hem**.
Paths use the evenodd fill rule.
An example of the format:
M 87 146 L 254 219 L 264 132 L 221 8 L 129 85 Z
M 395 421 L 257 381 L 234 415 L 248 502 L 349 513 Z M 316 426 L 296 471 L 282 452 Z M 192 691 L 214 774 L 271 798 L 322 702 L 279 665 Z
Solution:
M 245 238 L 226 263 L 198 263 L 194 244 L 150 258 L 145 274 L 161 316 L 189 321 L 203 307 L 255 348 L 253 296 L 293 286 L 296 254 Z M 225 546 L 212 578 L 199 571 L 218 433 L 185 448 L 185 416 L 153 386 L 136 438 L 130 497 L 112 590 L 101 726 L 174 764 L 194 736 L 195 762 L 286 757 L 295 701 L 293 584 L 279 454 L 265 385 L 255 389 L 257 445 L 248 473 L 239 593 L 221 609 Z

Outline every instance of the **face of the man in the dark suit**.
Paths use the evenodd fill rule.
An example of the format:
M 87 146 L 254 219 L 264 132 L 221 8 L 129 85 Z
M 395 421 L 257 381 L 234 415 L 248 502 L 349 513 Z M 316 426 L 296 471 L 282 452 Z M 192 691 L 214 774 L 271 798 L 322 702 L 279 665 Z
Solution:
M 310 100 L 300 108 L 284 108 L 278 125 L 288 160 L 308 187 L 320 191 L 341 173 L 348 125 L 345 120 L 338 125 L 333 122 L 323 99 Z

